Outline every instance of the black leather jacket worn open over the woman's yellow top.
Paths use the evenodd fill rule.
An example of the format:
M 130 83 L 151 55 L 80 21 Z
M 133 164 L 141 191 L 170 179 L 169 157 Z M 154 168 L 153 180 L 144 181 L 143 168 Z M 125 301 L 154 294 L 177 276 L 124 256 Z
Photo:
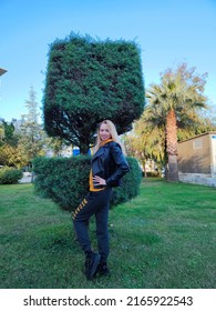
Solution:
M 101 147 L 92 158 L 92 174 L 106 181 L 107 187 L 119 187 L 121 178 L 130 171 L 119 143 L 111 141 Z M 103 185 L 94 185 L 100 189 Z

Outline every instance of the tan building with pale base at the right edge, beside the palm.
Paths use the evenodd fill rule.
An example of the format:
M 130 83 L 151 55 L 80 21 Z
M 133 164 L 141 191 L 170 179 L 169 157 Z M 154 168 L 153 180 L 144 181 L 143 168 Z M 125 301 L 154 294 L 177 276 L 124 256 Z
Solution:
M 179 181 L 216 187 L 216 131 L 178 142 Z

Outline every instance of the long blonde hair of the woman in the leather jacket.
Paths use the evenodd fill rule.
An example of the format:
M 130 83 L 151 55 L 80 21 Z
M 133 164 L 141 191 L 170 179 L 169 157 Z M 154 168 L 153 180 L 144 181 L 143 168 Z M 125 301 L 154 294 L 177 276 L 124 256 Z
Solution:
M 122 143 L 122 141 L 120 140 L 119 138 L 119 134 L 117 134 L 117 131 L 116 131 L 116 128 L 115 126 L 113 124 L 112 121 L 110 120 L 104 120 L 102 121 L 100 124 L 99 124 L 99 128 L 97 128 L 97 132 L 96 132 L 96 143 L 94 146 L 94 153 L 100 149 L 101 144 L 102 144 L 102 140 L 101 140 L 101 137 L 100 137 L 100 128 L 102 124 L 106 124 L 107 128 L 109 128 L 109 131 L 111 133 L 111 138 L 113 141 L 117 142 L 122 149 L 122 152 L 124 156 L 126 156 L 126 151 L 125 151 L 125 148 L 124 148 L 124 144 Z

